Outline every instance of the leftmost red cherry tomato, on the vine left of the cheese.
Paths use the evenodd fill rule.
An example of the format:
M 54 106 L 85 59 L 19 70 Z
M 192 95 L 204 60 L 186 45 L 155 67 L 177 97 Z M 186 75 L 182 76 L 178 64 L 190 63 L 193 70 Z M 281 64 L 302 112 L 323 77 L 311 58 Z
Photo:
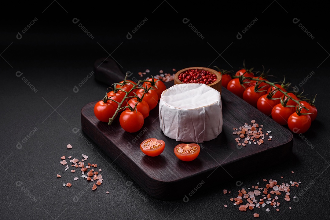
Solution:
M 109 122 L 117 110 L 118 104 L 114 101 L 108 100 L 106 103 L 103 100 L 96 102 L 94 106 L 94 114 L 101 122 Z

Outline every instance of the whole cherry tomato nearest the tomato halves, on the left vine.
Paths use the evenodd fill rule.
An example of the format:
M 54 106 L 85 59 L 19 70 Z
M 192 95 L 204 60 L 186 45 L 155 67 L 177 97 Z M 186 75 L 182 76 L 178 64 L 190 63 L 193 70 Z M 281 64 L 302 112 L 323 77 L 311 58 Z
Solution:
M 140 130 L 144 124 L 144 117 L 141 112 L 125 110 L 119 116 L 119 123 L 122 129 L 133 133 Z

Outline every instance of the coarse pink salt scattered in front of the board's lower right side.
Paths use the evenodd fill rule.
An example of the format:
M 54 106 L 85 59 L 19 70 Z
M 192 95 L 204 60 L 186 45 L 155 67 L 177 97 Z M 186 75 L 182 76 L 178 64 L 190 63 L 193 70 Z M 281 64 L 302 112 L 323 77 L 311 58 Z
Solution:
M 276 211 L 280 211 L 280 197 L 284 197 L 285 201 L 290 201 L 290 186 L 299 187 L 299 183 L 301 183 L 300 181 L 290 181 L 290 184 L 284 182 L 278 184 L 273 179 L 270 179 L 268 183 L 267 179 L 263 179 L 263 181 L 266 182 L 265 187 L 260 187 L 258 182 L 256 186 L 251 186 L 251 189 L 242 188 L 238 190 L 238 196 L 236 198 L 230 198 L 230 201 L 234 202 L 234 206 L 239 206 L 238 209 L 240 211 L 247 211 L 247 209 L 253 210 L 265 206 L 271 206 L 276 208 Z M 223 192 L 225 194 L 227 190 L 223 190 Z M 289 208 L 291 209 L 291 207 Z M 266 211 L 269 212 L 270 208 L 267 207 Z M 253 216 L 259 217 L 259 214 L 254 213 Z

